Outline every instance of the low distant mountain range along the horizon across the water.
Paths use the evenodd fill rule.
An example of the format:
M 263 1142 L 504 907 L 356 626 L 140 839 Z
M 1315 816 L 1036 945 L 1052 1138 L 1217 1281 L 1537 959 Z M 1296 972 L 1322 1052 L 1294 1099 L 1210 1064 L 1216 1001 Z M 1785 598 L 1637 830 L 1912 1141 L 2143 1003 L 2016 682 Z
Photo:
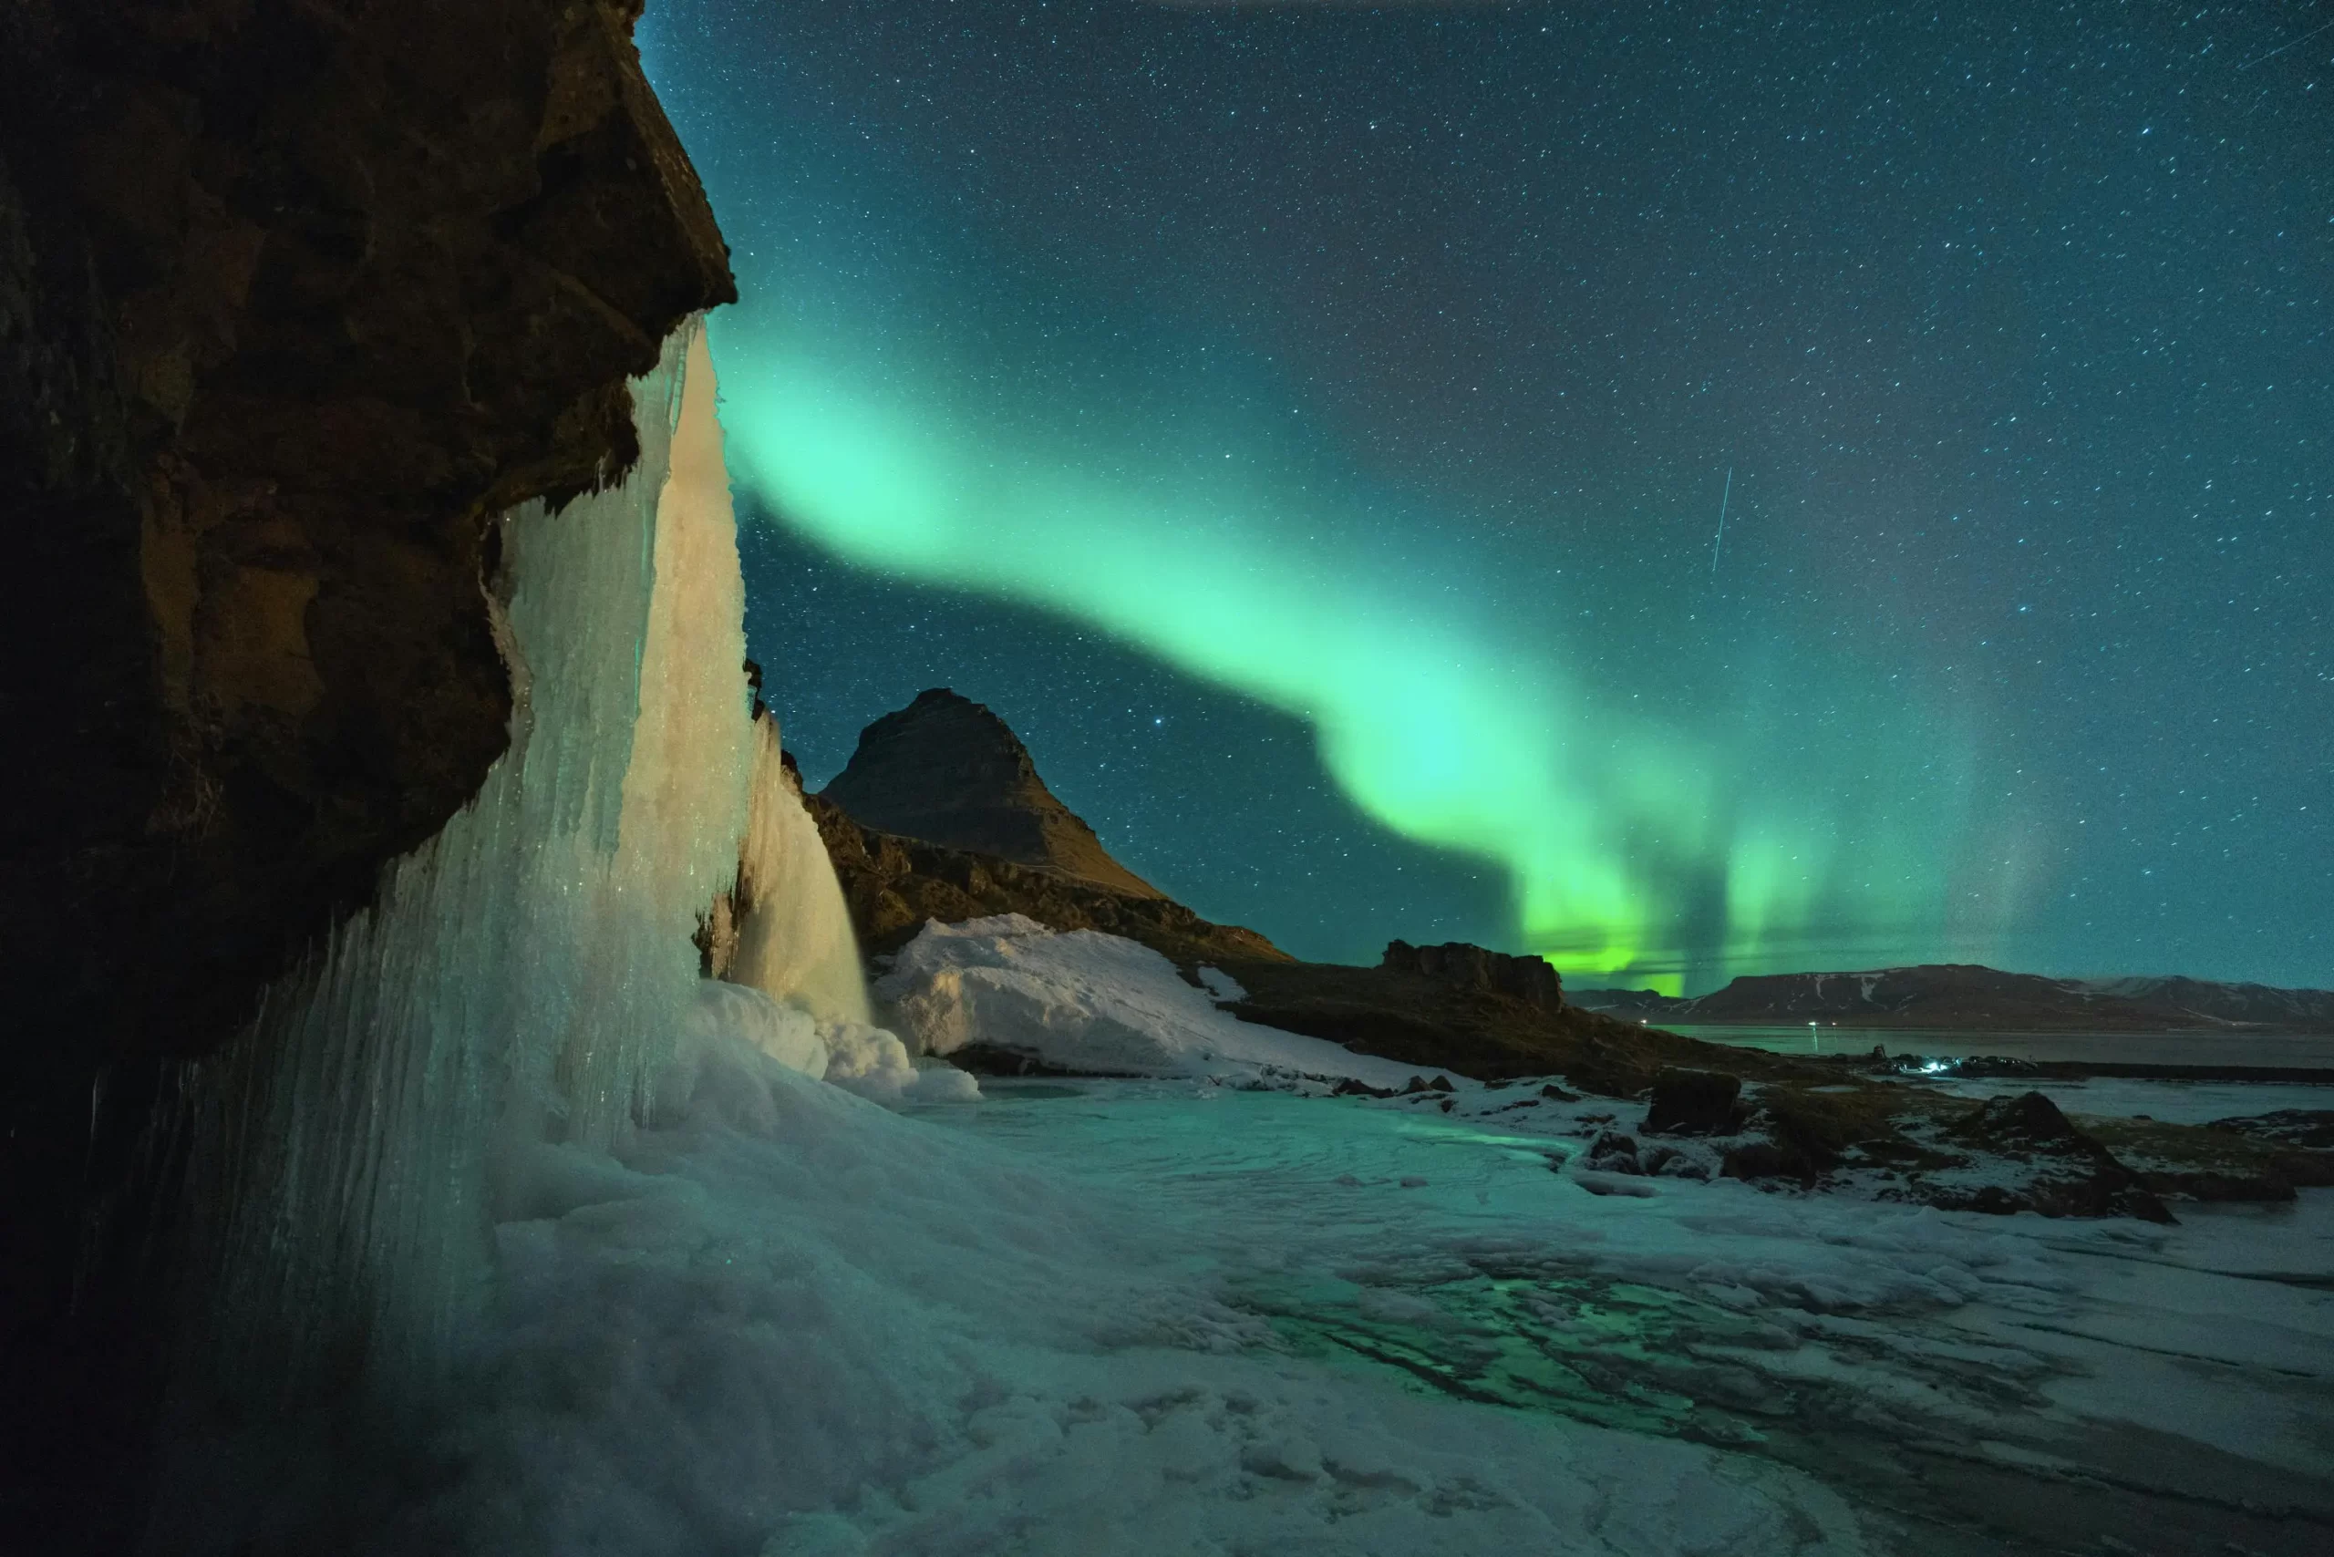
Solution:
M 1998 1032 L 2334 1032 L 2334 990 L 2206 978 L 2042 978 L 1949 962 L 1865 973 L 1758 973 L 1673 999 L 1568 990 L 1589 1011 L 1683 1025 L 1984 1027 Z

